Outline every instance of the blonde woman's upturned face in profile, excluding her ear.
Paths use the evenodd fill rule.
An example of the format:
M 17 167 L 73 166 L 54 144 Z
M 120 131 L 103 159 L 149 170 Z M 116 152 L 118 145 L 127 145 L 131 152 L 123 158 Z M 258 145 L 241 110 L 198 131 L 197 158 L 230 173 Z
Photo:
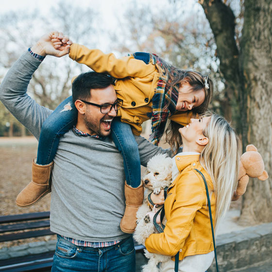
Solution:
M 182 140 L 187 143 L 195 143 L 203 135 L 204 128 L 208 125 L 210 117 L 203 117 L 200 119 L 191 119 L 187 126 L 179 129 Z

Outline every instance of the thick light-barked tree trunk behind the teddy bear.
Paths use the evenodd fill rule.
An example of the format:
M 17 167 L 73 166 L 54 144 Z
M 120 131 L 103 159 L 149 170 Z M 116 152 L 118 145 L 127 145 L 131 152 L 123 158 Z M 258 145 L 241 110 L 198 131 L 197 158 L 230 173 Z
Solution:
M 272 3 L 245 0 L 240 69 L 243 72 L 243 145 L 253 143 L 272 177 Z M 243 198 L 240 221 L 272 221 L 272 179 L 252 179 Z

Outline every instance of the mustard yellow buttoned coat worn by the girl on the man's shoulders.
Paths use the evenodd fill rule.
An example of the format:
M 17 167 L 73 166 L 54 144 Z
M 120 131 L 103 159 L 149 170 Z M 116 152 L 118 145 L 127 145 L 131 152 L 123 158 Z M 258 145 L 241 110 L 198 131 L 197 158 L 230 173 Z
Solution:
M 104 54 L 76 43 L 71 45 L 69 57 L 96 72 L 108 73 L 118 79 L 114 88 L 117 97 L 124 101 L 118 116 L 132 126 L 135 135 L 140 135 L 141 124 L 150 119 L 147 113 L 152 112 L 152 98 L 160 76 L 155 65 L 145 64 L 133 56 L 117 59 L 113 53 Z M 190 112 L 177 112 L 169 119 L 187 125 L 191 116 Z

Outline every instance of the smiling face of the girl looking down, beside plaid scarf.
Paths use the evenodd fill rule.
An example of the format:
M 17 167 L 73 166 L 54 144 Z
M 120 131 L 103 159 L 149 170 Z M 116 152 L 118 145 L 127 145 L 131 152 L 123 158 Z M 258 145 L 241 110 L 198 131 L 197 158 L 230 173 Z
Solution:
M 194 91 L 189 83 L 183 83 L 179 87 L 178 101 L 176 110 L 188 111 L 200 106 L 205 100 L 205 91 L 200 89 Z

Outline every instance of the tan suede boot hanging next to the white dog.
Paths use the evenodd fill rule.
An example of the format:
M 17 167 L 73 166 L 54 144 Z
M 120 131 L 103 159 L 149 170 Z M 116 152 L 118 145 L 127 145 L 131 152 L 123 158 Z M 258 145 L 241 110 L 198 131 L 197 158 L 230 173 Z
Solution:
M 125 182 L 125 198 L 126 209 L 120 222 L 120 228 L 122 232 L 133 233 L 136 228 L 136 212 L 144 199 L 144 187 L 142 182 L 137 188 L 133 188 Z

